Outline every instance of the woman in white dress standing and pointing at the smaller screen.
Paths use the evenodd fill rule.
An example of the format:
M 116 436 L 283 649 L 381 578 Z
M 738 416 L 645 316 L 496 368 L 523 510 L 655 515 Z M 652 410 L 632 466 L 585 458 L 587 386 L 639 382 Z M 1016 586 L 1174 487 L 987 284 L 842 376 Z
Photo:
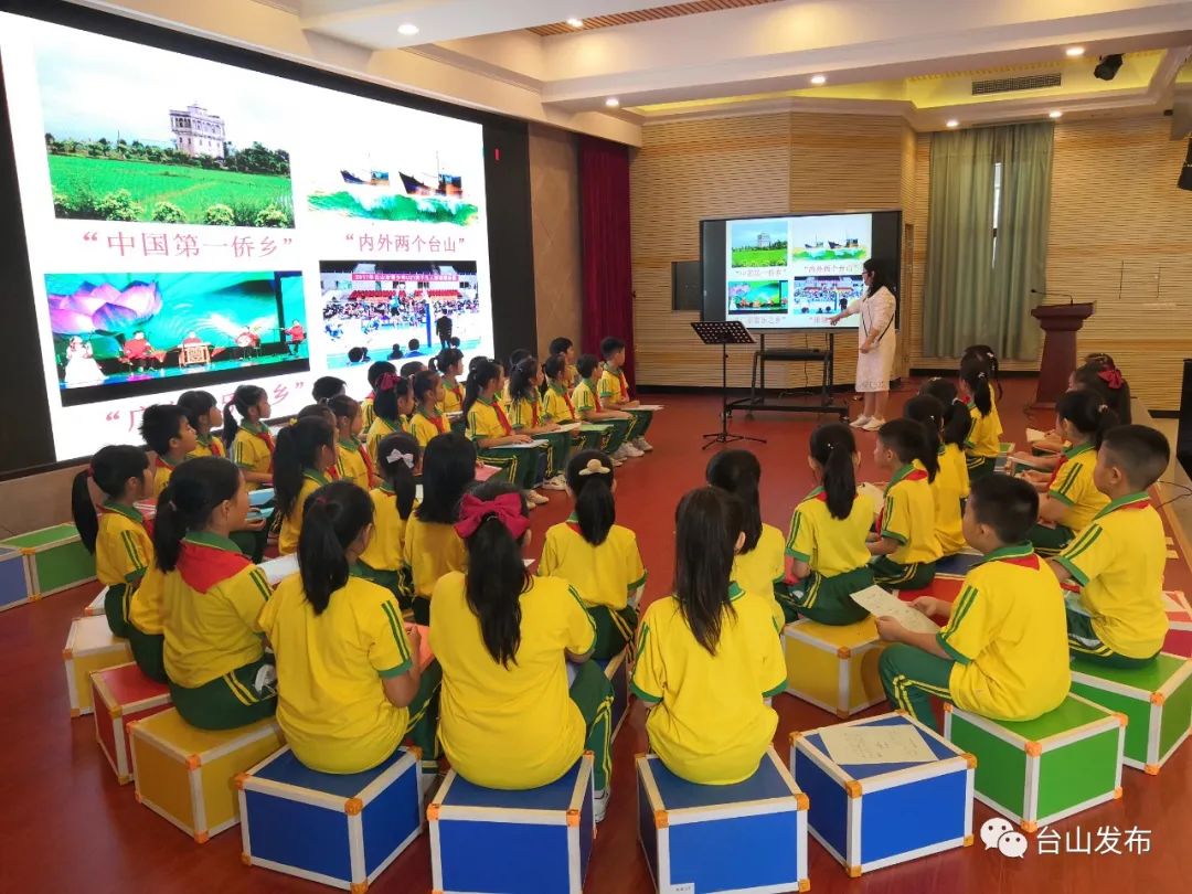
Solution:
M 864 399 L 861 415 L 850 424 L 876 432 L 886 424 L 886 402 L 889 398 L 890 373 L 894 370 L 894 310 L 898 299 L 882 265 L 870 257 L 864 263 L 862 279 L 865 294 L 828 322 L 836 325 L 853 313 L 861 315 L 857 327 L 857 393 Z

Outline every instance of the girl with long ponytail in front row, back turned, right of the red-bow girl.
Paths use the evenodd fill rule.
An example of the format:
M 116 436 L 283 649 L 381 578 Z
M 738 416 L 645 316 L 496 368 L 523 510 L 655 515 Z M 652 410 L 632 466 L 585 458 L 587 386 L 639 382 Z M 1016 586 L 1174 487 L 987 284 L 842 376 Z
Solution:
M 629 685 L 651 708 L 646 733 L 666 768 L 728 786 L 752 776 L 770 747 L 778 715 L 769 700 L 787 688 L 787 665 L 765 603 L 732 581 L 745 544 L 740 501 L 691 491 L 675 536 L 675 595 L 642 615 Z

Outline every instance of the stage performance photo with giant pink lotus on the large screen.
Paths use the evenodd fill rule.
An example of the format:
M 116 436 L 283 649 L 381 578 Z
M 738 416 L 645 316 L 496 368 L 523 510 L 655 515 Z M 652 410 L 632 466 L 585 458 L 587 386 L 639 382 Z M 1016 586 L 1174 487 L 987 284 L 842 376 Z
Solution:
M 296 272 L 50 273 L 45 292 L 63 392 L 308 356 Z

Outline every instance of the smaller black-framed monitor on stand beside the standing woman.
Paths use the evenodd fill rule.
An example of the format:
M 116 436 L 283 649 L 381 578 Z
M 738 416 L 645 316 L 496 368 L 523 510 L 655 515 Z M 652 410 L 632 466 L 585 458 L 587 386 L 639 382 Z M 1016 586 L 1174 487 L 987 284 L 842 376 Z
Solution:
M 702 221 L 703 319 L 753 330 L 826 330 L 861 298 L 862 265 L 899 281 L 901 211 L 849 211 Z M 857 316 L 839 323 L 856 329 Z

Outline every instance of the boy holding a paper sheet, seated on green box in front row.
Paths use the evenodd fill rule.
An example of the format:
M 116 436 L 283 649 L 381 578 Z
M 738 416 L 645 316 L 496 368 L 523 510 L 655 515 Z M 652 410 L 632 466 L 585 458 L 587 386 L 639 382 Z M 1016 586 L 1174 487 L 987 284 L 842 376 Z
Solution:
M 1038 517 L 1038 493 L 1026 482 L 992 474 L 973 482 L 964 539 L 985 559 L 964 577 L 949 606 L 920 596 L 912 607 L 949 615 L 937 634 L 879 617 L 894 642 L 879 660 L 890 704 L 935 727 L 930 696 L 993 720 L 1032 720 L 1057 708 L 1072 683 L 1063 596 L 1035 554 L 1026 532 Z

